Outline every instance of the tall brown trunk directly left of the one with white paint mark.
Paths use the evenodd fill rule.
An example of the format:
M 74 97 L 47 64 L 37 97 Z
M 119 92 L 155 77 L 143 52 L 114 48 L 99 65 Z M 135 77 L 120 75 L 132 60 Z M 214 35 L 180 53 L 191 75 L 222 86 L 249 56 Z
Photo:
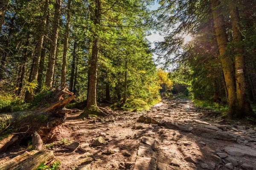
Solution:
M 221 8 L 219 0 L 211 0 L 211 8 L 213 21 L 215 24 L 215 32 L 217 36 L 218 48 L 221 56 L 221 64 L 224 73 L 225 82 L 228 92 L 228 117 L 232 118 L 236 110 L 236 79 L 235 66 L 231 57 L 225 56 L 227 51 L 227 32 L 225 28 L 224 18 L 221 15 Z

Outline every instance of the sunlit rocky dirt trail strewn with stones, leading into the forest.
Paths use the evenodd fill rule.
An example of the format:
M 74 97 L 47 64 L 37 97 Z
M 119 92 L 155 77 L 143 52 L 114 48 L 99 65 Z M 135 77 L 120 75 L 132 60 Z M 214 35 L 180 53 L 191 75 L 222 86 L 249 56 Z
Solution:
M 256 170 L 256 125 L 215 119 L 220 113 L 185 99 L 110 112 L 90 119 L 77 119 L 77 112 L 56 128 L 46 147 L 61 169 Z

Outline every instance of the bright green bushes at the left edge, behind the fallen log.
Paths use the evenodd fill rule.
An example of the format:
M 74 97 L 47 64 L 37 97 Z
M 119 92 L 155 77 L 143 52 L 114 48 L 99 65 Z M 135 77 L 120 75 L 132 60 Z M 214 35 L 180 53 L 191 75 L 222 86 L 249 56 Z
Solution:
M 0 94 L 0 113 L 23 111 L 29 108 L 23 100 L 15 94 Z

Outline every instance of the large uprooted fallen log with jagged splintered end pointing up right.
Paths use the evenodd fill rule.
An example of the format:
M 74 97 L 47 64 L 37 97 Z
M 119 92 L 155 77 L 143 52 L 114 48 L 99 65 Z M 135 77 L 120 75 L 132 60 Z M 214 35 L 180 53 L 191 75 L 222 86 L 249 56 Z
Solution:
M 37 131 L 43 139 L 53 127 L 57 127 L 65 121 L 67 114 L 70 112 L 65 106 L 75 97 L 75 95 L 70 96 L 38 110 L 1 113 L 0 135 L 6 136 L 8 139 L 3 138 L 0 141 L 0 151 L 5 151 L 7 147 L 19 141 L 19 137 L 31 136 L 35 131 Z M 8 127 L 9 130 L 6 127 Z M 10 128 L 12 128 L 12 130 L 10 130 Z M 10 131 L 12 131 L 12 134 L 8 134 Z

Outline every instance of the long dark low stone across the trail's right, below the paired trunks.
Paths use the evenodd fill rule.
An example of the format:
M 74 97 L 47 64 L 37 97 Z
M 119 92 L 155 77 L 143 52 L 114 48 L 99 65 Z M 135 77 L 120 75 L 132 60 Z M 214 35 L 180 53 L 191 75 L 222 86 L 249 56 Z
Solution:
M 221 130 L 212 130 L 204 127 L 194 127 L 191 133 L 195 135 L 204 136 L 207 138 L 221 139 L 221 140 L 233 140 L 236 141 L 237 137 L 233 134 L 223 132 Z

